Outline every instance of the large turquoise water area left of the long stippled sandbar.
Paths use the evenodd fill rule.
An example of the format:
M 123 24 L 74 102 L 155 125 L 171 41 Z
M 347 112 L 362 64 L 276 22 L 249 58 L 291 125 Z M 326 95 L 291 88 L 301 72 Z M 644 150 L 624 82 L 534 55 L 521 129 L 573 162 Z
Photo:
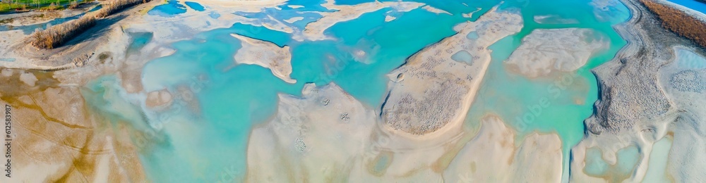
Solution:
M 424 46 L 454 34 L 453 25 L 468 20 L 422 10 L 405 13 L 392 23 L 385 23 L 384 18 L 385 11 L 375 11 L 338 23 L 325 32 L 337 40 L 295 42 L 285 32 L 236 23 L 172 44 L 176 53 L 150 61 L 143 69 L 145 91 L 168 89 L 177 96 L 177 107 L 144 112 L 149 127 L 165 139 L 140 154 L 149 178 L 213 182 L 228 170 L 235 172 L 232 178 L 241 179 L 251 127 L 275 113 L 277 94 L 298 96 L 306 82 L 336 82 L 366 106 L 379 106 L 388 72 Z M 226 69 L 234 64 L 232 56 L 240 48 L 232 33 L 291 46 L 291 76 L 297 83 L 287 84 L 257 65 Z M 368 54 L 352 54 L 359 50 Z M 117 85 L 103 87 L 122 90 Z

